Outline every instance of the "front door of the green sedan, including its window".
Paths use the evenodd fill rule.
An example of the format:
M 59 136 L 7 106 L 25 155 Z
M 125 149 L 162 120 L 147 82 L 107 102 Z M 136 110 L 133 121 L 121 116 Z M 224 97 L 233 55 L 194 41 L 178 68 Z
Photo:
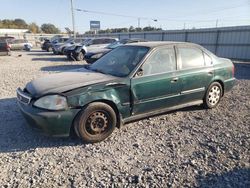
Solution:
M 176 58 L 172 46 L 154 50 L 131 79 L 132 114 L 137 115 L 179 103 Z

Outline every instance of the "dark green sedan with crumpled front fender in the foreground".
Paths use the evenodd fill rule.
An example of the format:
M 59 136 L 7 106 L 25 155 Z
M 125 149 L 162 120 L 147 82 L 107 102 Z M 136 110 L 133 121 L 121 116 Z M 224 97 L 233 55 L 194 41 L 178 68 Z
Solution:
M 94 143 L 123 123 L 191 105 L 214 108 L 234 80 L 232 62 L 199 45 L 141 42 L 33 80 L 17 98 L 32 127 L 54 136 L 74 131 Z

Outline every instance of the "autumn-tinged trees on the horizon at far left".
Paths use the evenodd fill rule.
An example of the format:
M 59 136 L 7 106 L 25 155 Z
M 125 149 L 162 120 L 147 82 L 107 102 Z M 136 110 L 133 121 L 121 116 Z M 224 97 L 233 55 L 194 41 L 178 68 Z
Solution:
M 38 26 L 36 23 L 26 23 L 23 19 L 17 18 L 14 20 L 4 19 L 0 20 L 0 28 L 5 29 L 28 29 L 31 33 L 47 33 L 47 34 L 57 34 L 61 31 L 51 23 L 45 23 Z

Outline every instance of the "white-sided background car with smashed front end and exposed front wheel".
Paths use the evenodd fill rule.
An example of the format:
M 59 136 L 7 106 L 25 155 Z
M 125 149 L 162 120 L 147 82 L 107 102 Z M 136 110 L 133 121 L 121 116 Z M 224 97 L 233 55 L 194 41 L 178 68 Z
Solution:
M 65 49 L 64 53 L 70 60 L 81 61 L 84 59 L 84 55 L 87 53 L 88 50 L 104 48 L 116 41 L 118 41 L 117 38 L 111 37 L 94 38 L 82 44 L 74 45 L 68 49 Z

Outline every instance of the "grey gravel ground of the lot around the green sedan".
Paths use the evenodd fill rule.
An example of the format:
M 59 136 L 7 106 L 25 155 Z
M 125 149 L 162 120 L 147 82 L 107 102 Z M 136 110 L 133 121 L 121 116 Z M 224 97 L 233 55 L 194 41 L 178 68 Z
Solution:
M 81 64 L 0 56 L 0 187 L 250 187 L 250 63 L 235 65 L 237 84 L 216 109 L 144 119 L 86 145 L 31 131 L 15 100 L 31 79 Z

